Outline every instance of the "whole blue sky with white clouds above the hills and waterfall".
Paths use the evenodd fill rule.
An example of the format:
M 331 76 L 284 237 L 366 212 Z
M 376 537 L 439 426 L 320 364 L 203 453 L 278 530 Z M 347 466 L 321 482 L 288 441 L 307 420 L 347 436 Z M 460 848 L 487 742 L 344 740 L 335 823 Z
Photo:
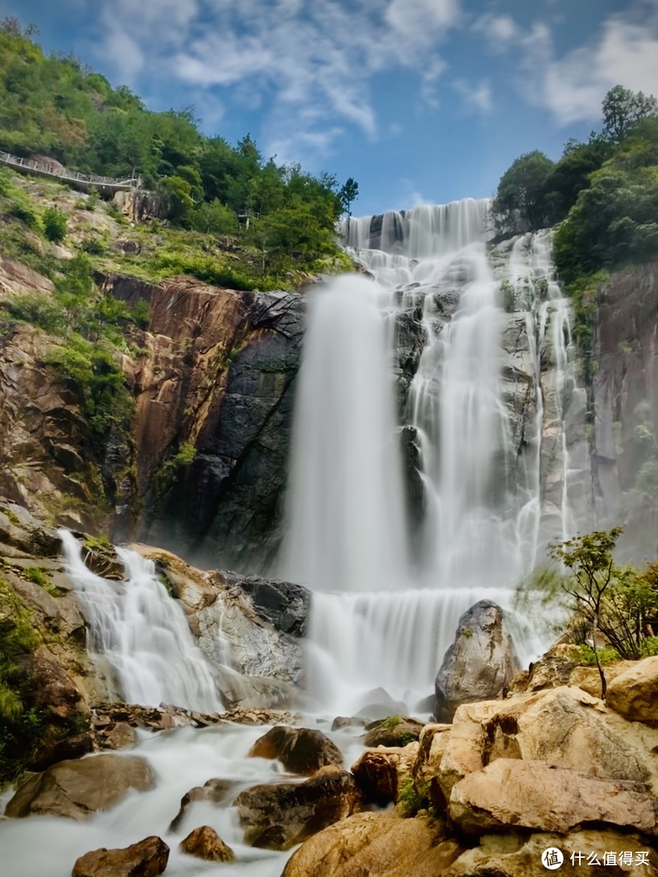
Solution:
M 490 196 L 607 89 L 658 95 L 658 0 L 0 0 L 154 110 L 340 181 L 354 213 Z

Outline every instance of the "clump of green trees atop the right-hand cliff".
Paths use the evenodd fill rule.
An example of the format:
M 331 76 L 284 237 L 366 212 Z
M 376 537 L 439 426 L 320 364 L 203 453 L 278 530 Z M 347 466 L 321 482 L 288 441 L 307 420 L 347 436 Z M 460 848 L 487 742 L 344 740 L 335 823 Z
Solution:
M 539 152 L 514 161 L 492 205 L 504 234 L 560 224 L 554 260 L 569 288 L 658 253 L 658 102 L 618 85 L 603 116 L 603 130 L 569 140 L 559 161 Z

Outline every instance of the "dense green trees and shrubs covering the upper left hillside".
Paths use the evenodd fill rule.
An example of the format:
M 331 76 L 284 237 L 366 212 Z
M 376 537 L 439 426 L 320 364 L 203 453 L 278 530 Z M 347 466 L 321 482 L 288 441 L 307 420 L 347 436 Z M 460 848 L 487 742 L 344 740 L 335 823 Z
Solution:
M 148 111 L 130 89 L 112 88 L 73 56 L 46 55 L 33 36 L 33 28 L 24 30 L 13 18 L 0 25 L 0 148 L 83 173 L 136 171 L 145 188 L 160 194 L 172 225 L 231 235 L 244 247 L 237 270 L 225 258 L 210 254 L 204 264 L 188 253 L 180 267 L 202 280 L 237 289 L 290 287 L 290 272 L 312 272 L 318 261 L 338 256 L 334 228 L 358 196 L 354 179 L 340 186 L 333 175 L 277 165 L 249 134 L 236 146 L 205 137 L 193 108 Z M 79 207 L 94 210 L 97 198 L 91 193 Z M 26 225 L 39 223 L 19 200 L 13 209 Z M 57 209 L 46 210 L 46 238 L 60 241 L 66 220 Z

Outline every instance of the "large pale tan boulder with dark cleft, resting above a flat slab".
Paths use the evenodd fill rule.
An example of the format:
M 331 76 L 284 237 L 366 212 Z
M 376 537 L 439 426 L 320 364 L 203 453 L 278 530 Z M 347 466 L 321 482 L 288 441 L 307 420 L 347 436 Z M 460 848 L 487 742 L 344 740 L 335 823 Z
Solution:
M 437 781 L 454 783 L 498 758 L 545 761 L 598 779 L 658 788 L 658 732 L 606 711 L 580 688 L 550 688 L 506 701 L 464 704 L 440 760 Z M 658 750 L 655 750 L 658 752 Z

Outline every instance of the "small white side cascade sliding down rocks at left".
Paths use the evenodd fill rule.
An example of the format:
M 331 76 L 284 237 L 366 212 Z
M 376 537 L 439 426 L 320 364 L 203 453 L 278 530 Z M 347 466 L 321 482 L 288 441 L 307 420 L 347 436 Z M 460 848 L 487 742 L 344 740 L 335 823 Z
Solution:
M 124 581 L 108 581 L 82 561 L 82 545 L 59 531 L 68 575 L 89 621 L 90 651 L 109 666 L 127 703 L 221 709 L 217 681 L 181 606 L 158 581 L 154 562 L 117 548 Z

